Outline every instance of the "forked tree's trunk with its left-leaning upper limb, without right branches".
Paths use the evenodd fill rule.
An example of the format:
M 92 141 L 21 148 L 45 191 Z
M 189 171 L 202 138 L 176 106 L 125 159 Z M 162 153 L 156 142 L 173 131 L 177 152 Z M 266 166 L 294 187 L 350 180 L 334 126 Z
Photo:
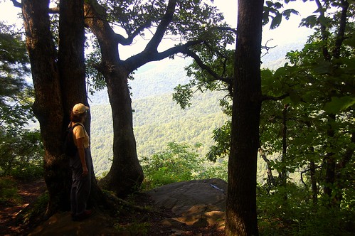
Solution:
M 112 166 L 107 176 L 100 181 L 100 186 L 124 197 L 143 181 L 133 134 L 132 101 L 127 81 L 131 71 L 120 60 L 115 32 L 103 20 L 105 16 L 100 16 L 96 10 L 92 5 L 85 4 L 85 22 L 100 44 L 102 60 L 97 70 L 105 77 L 114 133 Z

